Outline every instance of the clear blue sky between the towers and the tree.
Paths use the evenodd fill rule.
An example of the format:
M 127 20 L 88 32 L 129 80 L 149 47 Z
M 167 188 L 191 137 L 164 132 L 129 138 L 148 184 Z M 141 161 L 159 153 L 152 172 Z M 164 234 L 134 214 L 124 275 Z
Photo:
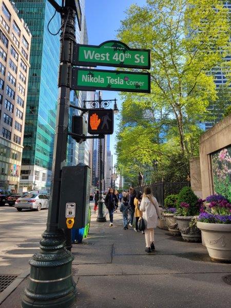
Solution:
M 85 0 L 85 15 L 88 32 L 88 44 L 100 45 L 105 41 L 117 40 L 117 30 L 120 28 L 121 21 L 125 18 L 125 10 L 131 4 L 140 6 L 146 3 L 145 0 Z M 110 69 L 101 67 L 102 69 Z M 112 68 L 114 69 L 114 68 Z M 121 110 L 121 100 L 117 91 L 103 91 L 102 98 L 113 100 L 117 99 L 118 108 Z M 110 105 L 113 108 L 113 103 Z M 115 157 L 115 136 L 119 124 L 118 116 L 115 116 L 114 133 L 110 138 L 110 150 L 113 155 L 113 164 Z

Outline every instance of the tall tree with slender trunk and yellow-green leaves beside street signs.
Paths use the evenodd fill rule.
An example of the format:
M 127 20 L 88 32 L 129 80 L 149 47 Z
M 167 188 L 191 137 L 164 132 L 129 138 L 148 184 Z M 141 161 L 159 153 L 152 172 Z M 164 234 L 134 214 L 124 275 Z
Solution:
M 146 96 L 170 109 L 180 149 L 188 151 L 187 123 L 203 120 L 209 101 L 216 99 L 213 75 L 206 72 L 220 66 L 228 50 L 228 12 L 218 0 L 147 0 L 126 13 L 118 38 L 131 48 L 151 49 L 152 93 Z

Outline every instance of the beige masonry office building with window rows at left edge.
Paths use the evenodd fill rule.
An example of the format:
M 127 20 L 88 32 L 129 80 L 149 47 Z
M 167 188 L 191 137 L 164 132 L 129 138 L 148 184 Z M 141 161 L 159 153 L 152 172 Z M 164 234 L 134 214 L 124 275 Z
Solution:
M 17 190 L 23 134 L 31 34 L 9 0 L 0 0 L 0 188 Z

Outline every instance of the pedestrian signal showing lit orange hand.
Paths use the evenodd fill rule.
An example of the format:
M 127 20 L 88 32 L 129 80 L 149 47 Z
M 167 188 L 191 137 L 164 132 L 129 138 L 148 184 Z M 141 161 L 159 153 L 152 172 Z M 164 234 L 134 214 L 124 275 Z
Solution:
M 112 109 L 89 109 L 88 111 L 88 133 L 90 134 L 112 134 L 113 122 Z

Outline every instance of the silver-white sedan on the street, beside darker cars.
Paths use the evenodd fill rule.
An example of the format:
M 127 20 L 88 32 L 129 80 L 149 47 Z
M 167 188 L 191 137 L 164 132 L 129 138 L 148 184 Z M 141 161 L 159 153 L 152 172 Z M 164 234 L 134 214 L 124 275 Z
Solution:
M 22 211 L 23 208 L 41 210 L 42 208 L 48 208 L 48 206 L 49 197 L 44 194 L 29 194 L 23 196 L 18 198 L 14 205 L 18 211 Z

